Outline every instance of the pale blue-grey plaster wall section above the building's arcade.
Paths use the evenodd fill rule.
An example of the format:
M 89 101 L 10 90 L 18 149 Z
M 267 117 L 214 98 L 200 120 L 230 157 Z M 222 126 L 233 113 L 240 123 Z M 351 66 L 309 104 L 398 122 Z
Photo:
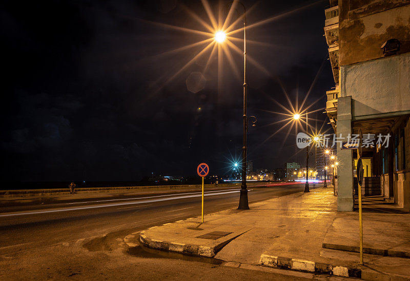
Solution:
M 343 66 L 340 75 L 354 117 L 410 110 L 410 53 Z

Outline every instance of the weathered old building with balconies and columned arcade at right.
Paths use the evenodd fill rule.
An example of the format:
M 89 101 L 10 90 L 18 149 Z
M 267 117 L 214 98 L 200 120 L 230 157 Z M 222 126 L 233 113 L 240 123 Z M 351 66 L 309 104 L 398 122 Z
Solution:
M 326 92 L 327 116 L 338 137 L 361 131 L 367 140 L 364 195 L 380 194 L 408 210 L 410 0 L 331 0 L 330 6 L 324 33 L 335 88 Z M 353 210 L 358 156 L 337 147 L 339 211 Z

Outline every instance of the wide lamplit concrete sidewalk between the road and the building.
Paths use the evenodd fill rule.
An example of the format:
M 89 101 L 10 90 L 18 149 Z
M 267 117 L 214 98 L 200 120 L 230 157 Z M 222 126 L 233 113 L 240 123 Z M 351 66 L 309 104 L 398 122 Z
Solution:
M 234 266 L 252 264 L 368 280 L 410 280 L 406 276 L 410 272 L 408 258 L 365 255 L 367 264 L 361 266 L 357 253 L 322 248 L 338 219 L 333 188 L 311 189 L 310 193 L 254 203 L 250 208 L 209 214 L 204 223 L 197 217 L 153 227 L 141 232 L 139 239 L 152 248 L 216 257 Z M 125 240 L 132 245 L 136 237 L 136 233 L 131 234 Z

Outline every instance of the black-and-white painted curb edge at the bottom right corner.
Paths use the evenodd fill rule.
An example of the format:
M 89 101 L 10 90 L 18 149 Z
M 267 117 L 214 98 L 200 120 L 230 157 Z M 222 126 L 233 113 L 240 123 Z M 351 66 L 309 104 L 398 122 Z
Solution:
M 262 254 L 260 256 L 259 264 L 266 267 L 291 269 L 296 271 L 308 271 L 317 274 L 329 274 L 342 277 L 354 277 L 364 280 L 400 280 L 409 281 L 409 276 L 399 274 L 384 273 L 371 269 L 361 269 L 354 267 L 335 266 L 325 263 L 315 263 L 312 261 L 298 260 L 297 258 L 289 258 L 282 256 L 272 256 Z

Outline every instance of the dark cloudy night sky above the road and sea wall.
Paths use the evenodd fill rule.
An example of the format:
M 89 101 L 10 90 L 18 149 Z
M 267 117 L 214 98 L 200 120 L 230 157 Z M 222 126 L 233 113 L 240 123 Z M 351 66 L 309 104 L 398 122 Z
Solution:
M 216 14 L 227 3 L 210 1 Z M 254 168 L 304 163 L 295 128 L 269 138 L 283 123 L 269 124 L 285 118 L 269 111 L 285 112 L 273 99 L 290 108 L 279 81 L 300 104 L 319 72 L 306 103 L 319 99 L 311 125 L 329 126 L 319 110 L 334 87 L 323 37 L 329 2 L 243 3 L 249 25 L 275 17 L 247 33 L 261 66 L 248 63 L 248 114 L 258 119 L 248 159 Z M 206 31 L 186 7 L 210 23 L 199 0 L 4 1 L 2 179 L 137 181 L 195 175 L 201 162 L 222 176 L 241 153 L 243 61 L 232 52 L 238 77 L 224 56 L 218 83 L 218 54 L 204 71 L 207 52 L 170 80 L 206 46 L 170 52 L 207 37 L 155 24 Z

